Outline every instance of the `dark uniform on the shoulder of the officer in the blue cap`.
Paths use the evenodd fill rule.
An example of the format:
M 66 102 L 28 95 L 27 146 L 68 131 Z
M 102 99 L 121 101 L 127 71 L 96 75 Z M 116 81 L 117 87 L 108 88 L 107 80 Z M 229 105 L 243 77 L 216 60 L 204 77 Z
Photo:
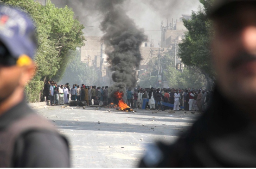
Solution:
M 28 116 L 38 118 L 32 109 L 28 107 L 25 99 L 9 109 L 0 116 L 0 140 L 8 128 Z M 39 118 L 38 118 L 39 119 Z M 46 120 L 42 120 L 48 122 Z M 67 140 L 54 130 L 48 130 L 44 126 L 42 130 L 30 128 L 26 132 L 18 134 L 18 138 L 14 140 L 14 145 L 10 152 L 4 151 L 4 145 L 0 145 L 0 166 L 5 166 L 5 154 L 11 153 L 10 163 L 6 163 L 8 167 L 18 168 L 60 168 L 70 167 L 70 152 Z M 48 127 L 49 128 L 49 127 Z M 2 135 L 1 135 L 2 134 Z M 16 138 L 16 137 L 15 137 Z M 7 144 L 6 144 L 7 145 Z

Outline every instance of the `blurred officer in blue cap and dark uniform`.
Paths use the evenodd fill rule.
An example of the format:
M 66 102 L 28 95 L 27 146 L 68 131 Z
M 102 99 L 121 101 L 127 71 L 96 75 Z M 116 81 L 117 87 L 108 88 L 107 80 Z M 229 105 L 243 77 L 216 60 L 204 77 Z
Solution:
M 1 5 L 1 168 L 70 167 L 67 140 L 49 121 L 42 119 L 26 104 L 24 87 L 35 74 L 33 59 L 36 46 L 34 25 L 27 14 Z

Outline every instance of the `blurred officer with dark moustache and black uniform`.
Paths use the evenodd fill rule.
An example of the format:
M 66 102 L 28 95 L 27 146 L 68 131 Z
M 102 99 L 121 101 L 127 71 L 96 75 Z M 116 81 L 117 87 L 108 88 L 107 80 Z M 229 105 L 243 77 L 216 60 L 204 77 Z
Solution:
M 140 167 L 256 167 L 256 0 L 216 0 L 213 101 L 172 145 L 149 145 Z

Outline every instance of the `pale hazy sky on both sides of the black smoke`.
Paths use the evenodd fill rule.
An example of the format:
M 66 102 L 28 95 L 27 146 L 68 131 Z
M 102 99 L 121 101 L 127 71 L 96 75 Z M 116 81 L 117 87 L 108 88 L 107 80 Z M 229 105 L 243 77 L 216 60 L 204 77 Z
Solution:
M 155 47 L 161 38 L 160 30 L 161 21 L 164 20 L 166 26 L 166 18 L 169 23 L 172 18 L 178 19 L 182 14 L 191 14 L 192 10 L 197 11 L 200 5 L 199 0 L 123 0 L 123 9 L 127 15 L 134 19 L 136 25 L 145 30 L 148 41 L 154 39 Z M 75 15 L 79 17 L 79 21 L 85 26 L 85 36 L 102 36 L 99 28 L 86 26 L 99 26 L 104 14 L 102 8 L 98 8 L 103 0 L 51 0 L 57 7 L 65 5 L 73 8 Z M 104 9 L 107 11 L 107 9 Z

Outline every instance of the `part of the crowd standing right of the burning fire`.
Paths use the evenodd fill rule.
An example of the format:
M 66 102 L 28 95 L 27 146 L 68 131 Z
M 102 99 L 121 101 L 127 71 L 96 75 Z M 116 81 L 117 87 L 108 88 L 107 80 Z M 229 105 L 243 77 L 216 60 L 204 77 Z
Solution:
M 162 102 L 173 104 L 173 110 L 179 111 L 181 107 L 187 111 L 204 111 L 211 98 L 211 92 L 205 90 L 193 89 L 155 89 L 131 88 L 127 91 L 126 103 L 133 109 L 141 109 L 142 99 L 147 98 L 146 108 L 165 110 L 170 109 L 163 106 Z M 125 99 L 124 99 L 125 100 Z M 172 109 L 172 108 L 171 108 Z

